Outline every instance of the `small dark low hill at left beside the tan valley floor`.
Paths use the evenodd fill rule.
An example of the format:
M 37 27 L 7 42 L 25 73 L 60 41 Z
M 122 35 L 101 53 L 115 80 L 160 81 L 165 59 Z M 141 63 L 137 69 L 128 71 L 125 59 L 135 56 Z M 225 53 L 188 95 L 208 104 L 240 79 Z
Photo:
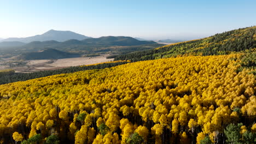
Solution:
M 59 59 L 59 58 L 71 58 L 71 57 L 80 57 L 78 54 L 62 52 L 55 49 L 47 49 L 42 52 L 27 52 L 23 53 L 20 56 L 22 59 L 31 60 L 31 59 Z

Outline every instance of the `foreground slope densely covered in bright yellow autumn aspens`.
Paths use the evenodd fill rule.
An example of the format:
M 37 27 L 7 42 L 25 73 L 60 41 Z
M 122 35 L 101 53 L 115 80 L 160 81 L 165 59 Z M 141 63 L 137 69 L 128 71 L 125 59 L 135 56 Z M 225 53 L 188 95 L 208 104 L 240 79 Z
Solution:
M 242 57 L 158 59 L 1 85 L 0 139 L 255 143 L 255 75 Z

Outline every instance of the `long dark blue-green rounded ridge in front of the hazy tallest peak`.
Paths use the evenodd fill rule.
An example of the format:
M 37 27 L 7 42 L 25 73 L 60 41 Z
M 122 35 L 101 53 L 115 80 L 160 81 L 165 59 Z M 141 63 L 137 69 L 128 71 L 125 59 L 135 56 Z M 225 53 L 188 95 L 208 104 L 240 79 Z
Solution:
M 29 50 L 44 50 L 44 49 L 57 49 L 61 51 L 78 51 L 86 50 L 91 51 L 92 47 L 97 47 L 97 50 L 105 49 L 109 46 L 135 46 L 135 45 L 147 45 L 157 44 L 154 41 L 139 41 L 131 37 L 100 37 L 100 38 L 88 38 L 84 40 L 70 39 L 63 42 L 54 40 L 50 41 L 32 41 L 22 48 Z

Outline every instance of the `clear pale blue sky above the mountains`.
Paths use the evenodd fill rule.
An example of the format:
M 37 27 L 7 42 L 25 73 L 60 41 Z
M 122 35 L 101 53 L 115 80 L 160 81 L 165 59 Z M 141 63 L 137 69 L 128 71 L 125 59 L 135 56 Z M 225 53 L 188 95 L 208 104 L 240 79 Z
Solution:
M 90 37 L 196 39 L 254 25 L 255 0 L 0 0 L 0 38 L 56 29 Z

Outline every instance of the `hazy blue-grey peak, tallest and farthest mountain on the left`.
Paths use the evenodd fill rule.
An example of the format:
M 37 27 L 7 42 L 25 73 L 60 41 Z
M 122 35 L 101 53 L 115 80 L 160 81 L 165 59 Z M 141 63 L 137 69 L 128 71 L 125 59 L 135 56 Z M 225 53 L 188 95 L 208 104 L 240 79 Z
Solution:
M 48 32 L 45 32 L 41 35 L 34 35 L 32 37 L 27 38 L 8 38 L 2 41 L 21 41 L 22 43 L 30 43 L 32 41 L 46 41 L 46 40 L 55 40 L 55 41 L 66 41 L 69 39 L 78 39 L 83 40 L 90 37 L 86 37 L 85 35 L 74 33 L 71 31 L 55 31 L 51 29 Z

